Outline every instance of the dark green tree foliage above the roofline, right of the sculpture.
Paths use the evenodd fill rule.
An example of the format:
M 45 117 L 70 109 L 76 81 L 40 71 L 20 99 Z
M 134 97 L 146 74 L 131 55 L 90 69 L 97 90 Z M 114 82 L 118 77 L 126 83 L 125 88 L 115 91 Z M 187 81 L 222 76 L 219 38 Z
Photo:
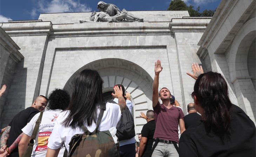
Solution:
M 199 12 L 200 7 L 198 6 L 194 9 L 194 6 L 187 6 L 183 0 L 172 0 L 170 2 L 169 8 L 167 10 L 172 11 L 184 11 L 188 10 L 189 16 L 191 17 L 213 17 L 215 10 L 204 10 L 202 13 Z

